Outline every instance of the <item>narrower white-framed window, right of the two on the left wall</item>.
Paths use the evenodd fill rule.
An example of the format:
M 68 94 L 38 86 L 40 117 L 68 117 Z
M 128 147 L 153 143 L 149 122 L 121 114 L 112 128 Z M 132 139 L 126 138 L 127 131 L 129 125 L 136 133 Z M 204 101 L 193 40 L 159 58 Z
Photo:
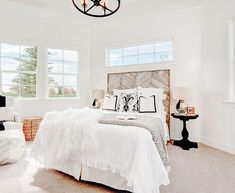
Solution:
M 78 52 L 48 49 L 48 96 L 78 95 Z

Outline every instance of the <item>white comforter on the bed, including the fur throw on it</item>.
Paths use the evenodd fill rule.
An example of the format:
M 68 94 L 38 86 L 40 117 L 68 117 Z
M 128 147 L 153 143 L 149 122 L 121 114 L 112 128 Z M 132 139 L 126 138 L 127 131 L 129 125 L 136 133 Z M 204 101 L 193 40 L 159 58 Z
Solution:
M 151 134 L 138 127 L 98 124 L 99 111 L 89 108 L 46 115 L 32 155 L 47 168 L 79 179 L 82 166 L 123 176 L 134 193 L 159 193 L 169 183 Z

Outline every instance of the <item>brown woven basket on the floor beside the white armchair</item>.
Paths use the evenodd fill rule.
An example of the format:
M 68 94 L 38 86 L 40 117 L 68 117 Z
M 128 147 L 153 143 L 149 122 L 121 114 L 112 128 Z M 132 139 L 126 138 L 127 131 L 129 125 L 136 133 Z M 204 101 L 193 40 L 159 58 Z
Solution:
M 34 140 L 42 119 L 42 117 L 31 117 L 24 119 L 23 132 L 26 141 Z

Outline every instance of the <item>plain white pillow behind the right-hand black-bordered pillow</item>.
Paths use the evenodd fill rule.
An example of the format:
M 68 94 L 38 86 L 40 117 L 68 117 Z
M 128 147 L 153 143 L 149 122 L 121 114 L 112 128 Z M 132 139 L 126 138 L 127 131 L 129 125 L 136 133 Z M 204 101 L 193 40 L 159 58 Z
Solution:
M 166 95 L 164 94 L 164 90 L 162 88 L 152 88 L 152 87 L 143 88 L 141 86 L 138 86 L 137 92 L 138 94 L 144 97 L 150 97 L 155 95 L 157 112 L 158 113 L 165 112 L 163 100 L 166 99 Z

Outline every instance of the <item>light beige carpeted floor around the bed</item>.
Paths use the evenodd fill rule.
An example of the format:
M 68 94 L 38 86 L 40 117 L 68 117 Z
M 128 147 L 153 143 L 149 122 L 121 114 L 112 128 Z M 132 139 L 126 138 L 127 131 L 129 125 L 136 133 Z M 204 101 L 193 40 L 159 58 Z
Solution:
M 161 193 L 235 193 L 234 155 L 204 145 L 190 151 L 169 145 L 168 150 L 171 183 L 162 186 Z M 0 167 L 0 193 L 124 192 L 78 182 L 63 173 L 38 168 L 26 153 L 17 164 Z

